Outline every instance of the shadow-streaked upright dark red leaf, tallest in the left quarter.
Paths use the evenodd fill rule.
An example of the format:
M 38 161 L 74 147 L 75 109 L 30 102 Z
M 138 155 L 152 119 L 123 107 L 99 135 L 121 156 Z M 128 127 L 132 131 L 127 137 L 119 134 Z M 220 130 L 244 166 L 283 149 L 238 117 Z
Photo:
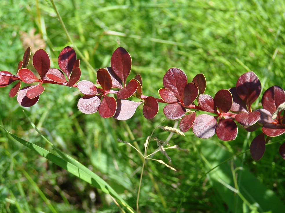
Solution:
M 70 46 L 63 48 L 63 50 L 59 54 L 58 63 L 59 68 L 61 68 L 61 70 L 66 74 L 68 80 L 70 79 L 70 73 L 73 70 L 73 65 L 75 61 L 76 53 L 74 49 Z

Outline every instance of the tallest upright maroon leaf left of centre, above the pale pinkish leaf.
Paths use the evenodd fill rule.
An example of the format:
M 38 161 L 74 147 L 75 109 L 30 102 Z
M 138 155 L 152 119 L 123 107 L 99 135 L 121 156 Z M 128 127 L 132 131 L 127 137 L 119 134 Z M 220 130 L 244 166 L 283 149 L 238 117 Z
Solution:
M 118 47 L 111 57 L 111 67 L 116 75 L 126 85 L 127 77 L 131 72 L 131 56 L 123 47 Z

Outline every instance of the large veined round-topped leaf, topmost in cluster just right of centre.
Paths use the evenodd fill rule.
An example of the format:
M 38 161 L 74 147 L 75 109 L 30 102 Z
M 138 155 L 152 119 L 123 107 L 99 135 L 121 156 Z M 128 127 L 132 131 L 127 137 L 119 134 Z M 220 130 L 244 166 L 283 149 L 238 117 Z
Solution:
M 176 98 L 182 102 L 184 87 L 187 84 L 185 72 L 178 68 L 170 68 L 163 76 L 163 86 L 174 93 Z

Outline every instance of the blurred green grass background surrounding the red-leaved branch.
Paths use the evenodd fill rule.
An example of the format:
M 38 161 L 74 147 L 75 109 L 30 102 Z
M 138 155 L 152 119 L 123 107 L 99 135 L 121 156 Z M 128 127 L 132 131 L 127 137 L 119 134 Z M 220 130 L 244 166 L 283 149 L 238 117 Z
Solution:
M 62 0 L 55 4 L 74 44 L 92 67 L 80 57 L 81 80 L 95 82 L 96 70 L 109 66 L 113 51 L 123 46 L 133 61 L 128 80 L 140 74 L 147 96 L 159 97 L 157 90 L 163 87 L 163 75 L 171 67 L 182 69 L 188 81 L 202 72 L 207 79 L 205 93 L 211 96 L 219 89 L 234 87 L 248 70 L 260 78 L 262 93 L 272 85 L 285 88 L 283 1 Z M 72 44 L 50 1 L 3 0 L 0 70 L 16 73 L 26 48 L 21 32 L 33 28 L 46 44 L 51 66 L 58 68 L 61 49 Z M 26 39 L 36 46 L 34 38 Z M 32 69 L 32 63 L 28 68 Z M 1 88 L 0 125 L 56 154 L 32 127 L 16 98 L 8 97 L 10 88 Z M 165 118 L 164 104 L 159 105 L 154 119 L 145 119 L 142 110 L 137 110 L 122 122 L 103 119 L 98 113 L 80 113 L 77 101 L 81 95 L 75 88 L 46 85 L 45 89 L 39 102 L 25 108 L 25 113 L 50 142 L 103 178 L 135 209 L 142 159 L 118 139 L 131 144 L 136 140 L 143 150 L 147 136 Z M 174 124 L 169 120 L 162 123 Z M 170 144 L 189 152 L 167 151 L 177 171 L 147 162 L 140 212 L 177 212 L 179 205 L 180 212 L 283 212 L 285 167 L 278 153 L 283 138 L 273 138 L 263 158 L 254 162 L 249 144 L 259 132 L 239 128 L 237 139 L 229 142 L 216 136 L 198 139 L 191 131 L 185 137 L 174 134 Z M 169 136 L 161 129 L 154 134 L 161 140 Z M 148 153 L 156 148 L 151 143 Z M 160 153 L 154 158 L 167 162 Z M 0 130 L 0 212 L 95 209 L 120 212 L 108 194 Z

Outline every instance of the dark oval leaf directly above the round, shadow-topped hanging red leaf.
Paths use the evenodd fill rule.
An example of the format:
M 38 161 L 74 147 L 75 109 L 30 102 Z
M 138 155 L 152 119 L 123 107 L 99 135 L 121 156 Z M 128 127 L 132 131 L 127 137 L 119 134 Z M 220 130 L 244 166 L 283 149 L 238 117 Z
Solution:
M 220 113 L 227 113 L 231 109 L 233 97 L 227 89 L 219 90 L 214 97 L 214 103 L 218 107 Z

